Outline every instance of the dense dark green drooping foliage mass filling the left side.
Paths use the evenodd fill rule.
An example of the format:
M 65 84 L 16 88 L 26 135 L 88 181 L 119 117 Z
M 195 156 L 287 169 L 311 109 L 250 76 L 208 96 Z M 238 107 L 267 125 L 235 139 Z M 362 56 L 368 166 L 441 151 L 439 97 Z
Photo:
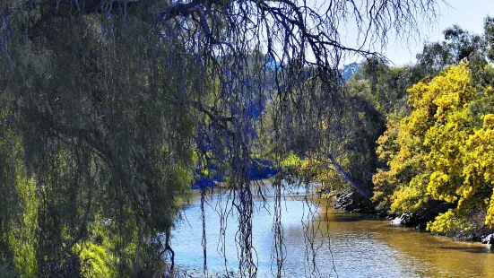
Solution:
M 0 264 L 26 277 L 151 271 L 152 240 L 169 232 L 191 172 L 191 110 L 173 91 L 195 83 L 193 59 L 143 39 L 149 26 L 23 8 L 1 63 Z M 185 66 L 163 66 L 174 59 Z M 107 245 L 91 238 L 97 222 L 114 235 Z M 101 252 L 115 259 L 92 264 Z

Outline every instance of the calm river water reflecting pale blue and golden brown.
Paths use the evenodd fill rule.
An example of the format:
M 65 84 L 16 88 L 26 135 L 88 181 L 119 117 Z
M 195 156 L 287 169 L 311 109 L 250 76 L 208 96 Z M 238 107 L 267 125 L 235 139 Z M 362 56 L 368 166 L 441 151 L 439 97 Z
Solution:
M 494 277 L 494 249 L 478 243 L 455 242 L 425 232 L 392 226 L 369 215 L 327 208 L 310 202 L 306 189 L 290 189 L 282 199 L 283 277 Z M 254 198 L 253 246 L 257 277 L 273 277 L 273 189 Z M 313 197 L 310 197 L 314 201 Z M 183 211 L 184 221 L 173 231 L 175 263 L 192 277 L 204 277 L 203 222 L 200 195 Z M 238 269 L 235 209 L 221 234 L 221 212 L 229 208 L 226 193 L 213 194 L 204 205 L 207 274 Z M 316 212 L 316 213 L 311 213 Z M 313 218 L 314 216 L 314 218 Z M 304 228 L 305 227 L 305 228 Z M 308 241 L 315 234 L 313 241 Z M 224 239 L 224 240 L 222 240 Z M 312 243 L 312 244 L 311 244 Z M 313 261 L 312 245 L 316 249 Z M 222 251 L 224 250 L 224 251 Z M 226 261 L 225 261 L 226 256 Z M 316 267 L 314 267 L 314 264 Z

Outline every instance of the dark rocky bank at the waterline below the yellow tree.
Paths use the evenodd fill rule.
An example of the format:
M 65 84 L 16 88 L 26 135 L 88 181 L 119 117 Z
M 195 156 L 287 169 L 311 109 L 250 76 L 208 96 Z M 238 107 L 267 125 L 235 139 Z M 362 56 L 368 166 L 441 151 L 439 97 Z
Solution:
M 330 195 L 332 206 L 334 209 L 341 209 L 349 213 L 366 213 L 377 215 L 379 219 L 389 221 L 390 225 L 407 227 L 412 230 L 427 231 L 427 223 L 434 220 L 437 216 L 435 213 L 402 213 L 389 214 L 379 213 L 374 205 L 363 198 L 359 193 L 348 190 Z M 480 242 L 481 244 L 489 244 L 494 248 L 494 230 L 488 229 L 483 224 L 483 218 L 477 216 L 477 221 L 472 221 L 472 226 L 465 230 L 454 230 L 446 234 L 435 234 L 446 238 L 455 239 L 465 242 Z

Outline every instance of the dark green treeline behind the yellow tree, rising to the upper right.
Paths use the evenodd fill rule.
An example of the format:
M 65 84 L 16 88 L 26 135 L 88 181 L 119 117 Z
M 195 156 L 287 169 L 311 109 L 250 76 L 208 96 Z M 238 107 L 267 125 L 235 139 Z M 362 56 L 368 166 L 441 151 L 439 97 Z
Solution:
M 311 130 L 303 129 L 299 136 L 294 133 L 294 138 L 307 140 L 304 135 L 310 134 L 320 142 L 298 153 L 303 160 L 295 168 L 333 189 L 340 184 L 339 188 L 350 185 L 360 187 L 358 191 L 362 191 L 363 195 L 366 195 L 365 191 L 370 192 L 372 175 L 376 169 L 386 168 L 382 161 L 389 161 L 390 153 L 386 148 L 391 146 L 386 146 L 384 141 L 396 136 L 399 121 L 412 112 L 412 107 L 407 104 L 407 88 L 424 78 L 437 76 L 446 66 L 455 65 L 461 60 L 472 61 L 473 67 L 485 65 L 483 55 L 487 35 L 475 35 L 458 26 L 446 29 L 444 34 L 445 41 L 425 45 L 417 56 L 416 64 L 394 67 L 376 57 L 362 63 L 361 73 L 353 75 L 344 84 L 345 94 L 337 100 L 341 103 L 340 109 L 321 117 L 319 126 Z M 316 91 L 308 84 L 305 88 Z M 377 140 L 386 125 L 388 131 Z M 376 141 L 381 144 L 380 160 L 377 160 Z M 289 149 L 298 150 L 296 145 Z M 417 163 L 420 165 L 420 162 Z M 388 188 L 386 195 L 393 194 L 394 188 Z M 380 194 L 377 192 L 377 195 Z M 385 200 L 389 201 L 387 198 Z M 386 202 L 377 202 L 377 209 L 389 209 L 390 204 Z

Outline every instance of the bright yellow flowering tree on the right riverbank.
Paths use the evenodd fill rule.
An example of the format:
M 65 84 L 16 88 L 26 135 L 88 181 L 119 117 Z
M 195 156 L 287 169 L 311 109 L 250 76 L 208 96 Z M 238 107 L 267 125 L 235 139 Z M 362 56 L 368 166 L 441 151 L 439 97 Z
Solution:
M 485 65 L 483 76 L 492 76 Z M 374 176 L 374 200 L 392 213 L 450 204 L 428 230 L 470 230 L 483 218 L 494 226 L 492 87 L 473 83 L 468 63 L 454 65 L 408 90 L 412 113 L 379 140 L 388 169 Z

